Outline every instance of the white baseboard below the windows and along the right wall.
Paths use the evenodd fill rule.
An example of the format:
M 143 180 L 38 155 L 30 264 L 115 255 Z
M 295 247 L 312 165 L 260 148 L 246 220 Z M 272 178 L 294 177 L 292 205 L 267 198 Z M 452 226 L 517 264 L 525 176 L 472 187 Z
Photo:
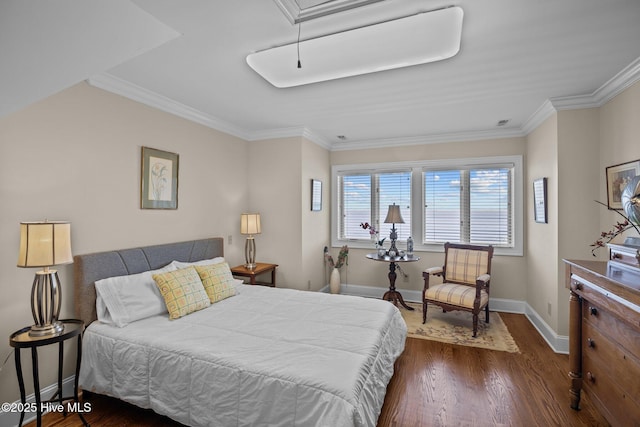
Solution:
M 341 294 L 367 298 L 380 298 L 385 290 L 386 289 L 374 286 L 350 285 L 346 283 L 343 283 L 340 287 Z M 328 292 L 329 286 L 325 286 L 320 291 Z M 422 300 L 422 291 L 410 289 L 398 289 L 398 291 L 402 293 L 405 301 L 419 302 Z M 566 335 L 558 335 L 526 301 L 490 298 L 489 307 L 491 311 L 524 314 L 555 353 L 569 353 L 569 337 Z

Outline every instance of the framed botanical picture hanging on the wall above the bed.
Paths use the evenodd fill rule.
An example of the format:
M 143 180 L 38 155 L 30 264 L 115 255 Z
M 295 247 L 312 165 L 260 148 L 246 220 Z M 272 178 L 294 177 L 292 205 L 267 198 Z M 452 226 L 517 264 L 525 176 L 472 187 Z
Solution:
M 142 147 L 142 209 L 178 209 L 178 161 L 176 153 Z

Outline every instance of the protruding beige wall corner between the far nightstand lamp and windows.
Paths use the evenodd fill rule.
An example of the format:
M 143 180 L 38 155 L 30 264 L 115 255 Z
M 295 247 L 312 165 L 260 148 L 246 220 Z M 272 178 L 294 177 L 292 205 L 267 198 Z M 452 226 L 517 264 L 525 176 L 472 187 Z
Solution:
M 257 258 L 278 264 L 278 283 L 294 289 L 325 285 L 322 249 L 329 238 L 329 152 L 304 138 L 249 146 L 249 200 L 260 212 Z M 323 186 L 323 209 L 311 212 L 311 179 Z

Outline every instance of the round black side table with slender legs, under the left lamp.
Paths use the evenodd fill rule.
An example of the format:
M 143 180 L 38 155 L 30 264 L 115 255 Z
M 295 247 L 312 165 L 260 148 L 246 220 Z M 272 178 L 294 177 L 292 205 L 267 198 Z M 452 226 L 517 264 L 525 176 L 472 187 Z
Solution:
M 60 320 L 60 322 L 64 325 L 64 329 L 55 335 L 43 336 L 43 337 L 32 337 L 29 335 L 29 331 L 31 330 L 30 326 L 26 328 L 22 328 L 9 337 L 9 345 L 15 348 L 15 360 L 16 360 L 16 372 L 18 374 L 18 386 L 20 387 L 20 401 L 22 402 L 23 409 L 34 409 L 36 412 L 37 425 L 40 427 L 42 425 L 42 412 L 43 407 L 48 407 L 49 405 L 55 405 L 56 407 L 62 406 L 64 402 L 72 401 L 74 405 L 72 406 L 73 410 L 78 413 L 78 416 L 82 420 L 82 424 L 88 426 L 89 424 L 82 416 L 82 406 L 80 405 L 80 401 L 78 399 L 78 376 L 80 374 L 80 361 L 82 358 L 82 333 L 84 331 L 84 323 L 82 320 L 76 319 L 67 319 Z M 63 397 L 62 396 L 62 366 L 63 366 L 63 357 L 64 357 L 64 342 L 68 339 L 78 337 L 78 353 L 76 356 L 76 377 L 73 384 L 73 396 Z M 38 347 L 42 347 L 49 344 L 58 344 L 58 390 L 49 400 L 43 401 L 40 397 L 40 378 L 38 371 Z M 35 406 L 30 406 L 26 404 L 26 394 L 24 389 L 24 378 L 22 376 L 22 363 L 20 360 L 20 350 L 23 348 L 31 349 L 31 361 L 33 364 L 33 389 L 36 398 Z M 63 412 L 67 414 L 68 405 L 63 406 Z M 22 426 L 22 421 L 24 420 L 24 413 L 26 411 L 23 410 L 20 413 L 20 424 Z

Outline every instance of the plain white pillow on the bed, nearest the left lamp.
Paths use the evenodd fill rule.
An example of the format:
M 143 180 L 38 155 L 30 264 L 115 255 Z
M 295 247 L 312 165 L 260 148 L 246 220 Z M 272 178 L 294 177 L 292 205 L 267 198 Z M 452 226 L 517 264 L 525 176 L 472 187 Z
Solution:
M 98 280 L 98 320 L 122 328 L 136 320 L 166 313 L 167 306 L 152 275 L 174 270 L 176 268 L 168 264 L 158 270 Z

